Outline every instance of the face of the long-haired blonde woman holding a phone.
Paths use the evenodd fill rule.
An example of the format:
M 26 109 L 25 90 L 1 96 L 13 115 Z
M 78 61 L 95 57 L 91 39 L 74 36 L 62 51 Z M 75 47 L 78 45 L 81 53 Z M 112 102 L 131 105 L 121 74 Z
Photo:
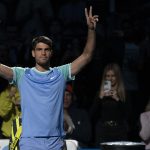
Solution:
M 111 86 L 116 86 L 116 75 L 113 70 L 106 72 L 106 80 L 111 81 Z

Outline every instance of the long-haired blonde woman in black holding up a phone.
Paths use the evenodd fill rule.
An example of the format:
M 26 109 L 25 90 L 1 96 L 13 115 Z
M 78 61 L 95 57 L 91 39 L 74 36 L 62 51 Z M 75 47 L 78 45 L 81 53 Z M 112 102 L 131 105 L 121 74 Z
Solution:
M 109 81 L 109 89 L 105 82 Z M 127 110 L 125 89 L 117 64 L 108 64 L 103 72 L 102 82 L 90 114 L 94 129 L 94 143 L 127 140 Z

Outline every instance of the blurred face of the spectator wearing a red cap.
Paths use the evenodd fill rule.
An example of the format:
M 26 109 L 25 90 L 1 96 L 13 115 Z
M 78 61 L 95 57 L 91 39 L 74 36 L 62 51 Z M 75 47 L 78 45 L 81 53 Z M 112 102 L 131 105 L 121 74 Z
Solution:
M 68 91 L 64 93 L 64 108 L 67 109 L 72 103 L 72 94 Z

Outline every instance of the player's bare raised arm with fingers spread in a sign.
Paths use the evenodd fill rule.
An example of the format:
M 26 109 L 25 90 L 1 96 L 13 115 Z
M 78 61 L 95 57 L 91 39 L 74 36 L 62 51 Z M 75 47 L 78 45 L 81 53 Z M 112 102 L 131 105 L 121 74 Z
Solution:
M 95 48 L 95 29 L 98 21 L 98 15 L 92 15 L 92 6 L 90 6 L 89 12 L 87 8 L 85 8 L 85 16 L 88 26 L 87 41 L 82 54 L 71 63 L 72 76 L 76 75 L 86 64 L 90 62 Z

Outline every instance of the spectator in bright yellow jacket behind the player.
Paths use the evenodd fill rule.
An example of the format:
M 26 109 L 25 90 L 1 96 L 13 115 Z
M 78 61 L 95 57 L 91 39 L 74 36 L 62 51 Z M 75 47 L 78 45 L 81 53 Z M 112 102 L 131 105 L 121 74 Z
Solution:
M 20 95 L 17 88 L 8 85 L 0 93 L 0 117 L 2 118 L 2 138 L 10 138 L 12 120 L 20 115 Z

